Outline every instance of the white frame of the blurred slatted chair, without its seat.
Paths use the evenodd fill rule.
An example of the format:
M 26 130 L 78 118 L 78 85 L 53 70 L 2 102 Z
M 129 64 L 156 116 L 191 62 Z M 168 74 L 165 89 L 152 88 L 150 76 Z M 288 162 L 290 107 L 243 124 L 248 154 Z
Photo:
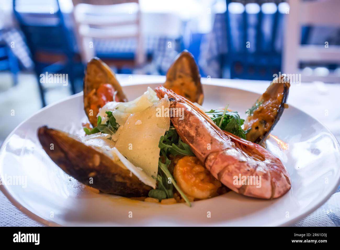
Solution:
M 96 38 L 111 40 L 134 38 L 137 44 L 135 65 L 141 65 L 146 60 L 146 53 L 143 47 L 138 0 L 113 2 L 111 5 L 85 3 L 75 5 L 74 20 L 82 59 L 87 63 L 95 56 L 93 43 Z

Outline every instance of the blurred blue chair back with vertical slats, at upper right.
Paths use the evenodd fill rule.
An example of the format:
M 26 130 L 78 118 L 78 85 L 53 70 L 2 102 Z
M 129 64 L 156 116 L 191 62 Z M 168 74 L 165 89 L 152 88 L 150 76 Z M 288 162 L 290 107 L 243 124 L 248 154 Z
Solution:
M 275 47 L 283 14 L 274 3 L 263 11 L 256 3 L 245 8 L 227 0 L 228 53 L 224 60 L 230 78 L 271 80 L 281 68 L 281 49 Z M 266 3 L 267 4 L 267 3 Z

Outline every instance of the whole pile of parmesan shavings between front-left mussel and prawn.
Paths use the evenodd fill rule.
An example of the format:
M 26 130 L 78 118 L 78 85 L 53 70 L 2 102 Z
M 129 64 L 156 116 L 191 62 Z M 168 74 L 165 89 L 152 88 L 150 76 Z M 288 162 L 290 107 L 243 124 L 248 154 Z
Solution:
M 109 156 L 116 164 L 129 169 L 140 181 L 156 188 L 159 159 L 159 138 L 169 130 L 170 118 L 159 117 L 157 108 L 169 108 L 167 97 L 159 100 L 151 88 L 127 103 L 109 102 L 99 110 L 102 123 L 106 123 L 106 111 L 111 111 L 120 125 L 116 133 L 97 133 L 82 138 L 83 143 Z

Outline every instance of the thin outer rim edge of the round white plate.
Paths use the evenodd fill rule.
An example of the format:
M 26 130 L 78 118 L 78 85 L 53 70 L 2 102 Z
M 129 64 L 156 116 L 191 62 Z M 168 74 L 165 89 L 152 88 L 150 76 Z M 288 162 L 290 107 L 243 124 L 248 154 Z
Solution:
M 150 82 L 150 83 L 126 83 L 124 85 L 122 85 L 122 87 L 128 87 L 128 86 L 134 86 L 134 85 L 150 85 L 150 84 L 160 84 L 162 85 L 162 83 L 158 83 L 158 82 Z M 223 88 L 229 88 L 229 89 L 234 89 L 234 90 L 240 90 L 242 92 L 248 92 L 251 94 L 258 94 L 257 92 L 253 92 L 253 91 L 249 91 L 249 90 L 244 90 L 242 88 L 235 88 L 235 87 L 230 87 L 230 86 L 226 86 L 223 85 L 222 83 L 211 83 L 211 82 L 205 82 L 202 83 L 202 85 L 212 85 L 212 86 L 217 86 L 217 87 L 223 87 Z M 73 98 L 77 98 L 79 96 L 83 95 L 83 91 L 73 94 L 73 95 L 69 95 L 59 101 L 56 101 L 54 103 L 51 103 L 39 110 L 37 110 L 35 113 L 33 113 L 29 118 L 25 119 L 24 121 L 22 121 L 21 123 L 19 123 L 13 130 L 11 133 L 8 134 L 8 136 L 5 138 L 5 140 L 3 141 L 2 145 L 0 146 L 0 154 L 2 153 L 2 151 L 4 150 L 4 145 L 7 143 L 7 141 L 9 140 L 9 138 L 13 135 L 13 133 L 24 123 L 26 123 L 28 120 L 30 120 L 32 117 L 34 117 L 35 115 L 43 112 L 45 109 L 48 109 L 54 105 L 63 103 L 65 101 L 68 101 L 70 99 Z M 289 102 L 288 102 L 289 104 Z M 311 119 L 317 121 L 318 123 L 320 123 L 331 135 L 331 137 L 335 140 L 336 142 L 336 146 L 338 149 L 338 155 L 340 156 L 340 143 L 337 140 L 337 138 L 333 135 L 333 133 L 329 130 L 329 128 L 327 126 L 325 126 L 322 122 L 320 122 L 317 118 L 312 117 L 310 114 L 306 113 L 305 111 L 295 107 L 294 105 L 289 104 L 290 107 L 293 107 L 297 110 L 299 110 L 300 112 L 304 113 L 305 115 L 308 115 L 308 117 L 310 117 Z M 0 166 L 2 167 L 2 166 Z M 340 166 L 338 166 L 340 167 Z M 336 185 L 333 187 L 333 189 L 331 189 L 331 192 L 329 192 L 329 194 L 327 194 L 322 200 L 320 200 L 317 204 L 315 204 L 314 206 L 312 206 L 310 209 L 306 210 L 305 212 L 301 213 L 300 215 L 297 215 L 295 218 L 281 223 L 279 225 L 276 225 L 277 227 L 286 227 L 286 226 L 292 226 L 296 221 L 301 220 L 302 218 L 305 218 L 307 215 L 311 214 L 312 212 L 316 211 L 318 208 L 320 208 L 334 193 L 335 191 L 338 189 L 340 185 L 340 171 L 339 171 L 339 176 L 338 176 L 338 181 L 336 182 Z M 6 185 L 0 185 L 0 191 L 6 196 L 6 198 L 17 208 L 19 209 L 19 211 L 21 211 L 23 214 L 27 215 L 29 218 L 35 220 L 36 222 L 44 225 L 44 226 L 52 226 L 52 227 L 62 227 L 63 225 L 60 225 L 54 221 L 48 221 L 45 220 L 43 218 L 41 218 L 40 216 L 36 215 L 35 213 L 31 212 L 30 210 L 28 210 L 27 208 L 23 207 L 19 201 L 17 201 L 11 194 L 10 192 L 8 192 L 8 190 L 6 189 Z M 208 225 L 211 226 L 211 225 Z

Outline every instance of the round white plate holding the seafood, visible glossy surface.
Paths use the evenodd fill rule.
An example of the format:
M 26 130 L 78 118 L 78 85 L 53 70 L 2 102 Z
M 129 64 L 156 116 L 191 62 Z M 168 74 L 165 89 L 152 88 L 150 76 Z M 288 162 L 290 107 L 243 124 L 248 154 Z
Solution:
M 123 87 L 129 100 L 150 86 Z M 206 108 L 229 104 L 241 117 L 258 94 L 204 85 Z M 288 100 L 289 101 L 289 100 Z M 0 149 L 0 176 L 27 177 L 27 187 L 0 185 L 2 192 L 33 219 L 63 226 L 282 226 L 291 225 L 323 204 L 340 180 L 339 143 L 320 122 L 292 106 L 285 110 L 267 148 L 287 167 L 292 189 L 283 197 L 260 200 L 229 192 L 212 199 L 185 204 L 160 205 L 96 194 L 66 175 L 50 160 L 37 139 L 37 128 L 48 125 L 71 133 L 86 121 L 82 94 L 48 106 L 21 123 Z M 210 212 L 210 213 L 209 213 Z M 132 214 L 132 218 L 131 218 Z M 210 214 L 210 218 L 208 218 Z M 130 215 L 130 216 L 129 216 Z

